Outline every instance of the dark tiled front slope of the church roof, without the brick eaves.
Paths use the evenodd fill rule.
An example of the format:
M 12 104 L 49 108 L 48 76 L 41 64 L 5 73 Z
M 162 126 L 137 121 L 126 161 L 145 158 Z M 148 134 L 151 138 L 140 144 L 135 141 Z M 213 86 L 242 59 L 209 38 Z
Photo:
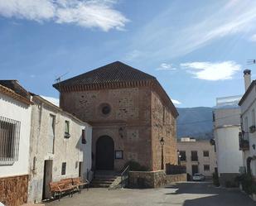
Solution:
M 105 84 L 147 79 L 156 78 L 138 69 L 134 69 L 129 65 L 125 65 L 120 61 L 115 61 L 109 65 L 104 65 L 98 69 L 80 74 L 71 79 L 66 79 L 65 81 L 60 82 L 60 84 L 61 87 L 63 87 L 81 84 Z M 53 86 L 58 89 L 58 85 L 59 84 L 54 84 Z

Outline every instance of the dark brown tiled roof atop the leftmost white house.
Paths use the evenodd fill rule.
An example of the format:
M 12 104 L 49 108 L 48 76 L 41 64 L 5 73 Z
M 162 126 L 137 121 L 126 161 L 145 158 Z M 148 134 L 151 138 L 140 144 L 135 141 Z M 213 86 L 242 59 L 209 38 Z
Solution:
M 0 80 L 0 84 L 8 89 L 12 89 L 15 93 L 21 95 L 23 98 L 30 100 L 30 93 L 18 83 L 17 80 Z

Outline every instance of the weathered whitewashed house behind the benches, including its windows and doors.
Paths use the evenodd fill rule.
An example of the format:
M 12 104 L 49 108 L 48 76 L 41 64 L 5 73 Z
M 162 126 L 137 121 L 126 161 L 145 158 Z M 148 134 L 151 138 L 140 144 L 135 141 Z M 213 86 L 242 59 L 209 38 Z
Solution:
M 50 198 L 49 183 L 91 179 L 92 127 L 32 94 L 28 202 Z

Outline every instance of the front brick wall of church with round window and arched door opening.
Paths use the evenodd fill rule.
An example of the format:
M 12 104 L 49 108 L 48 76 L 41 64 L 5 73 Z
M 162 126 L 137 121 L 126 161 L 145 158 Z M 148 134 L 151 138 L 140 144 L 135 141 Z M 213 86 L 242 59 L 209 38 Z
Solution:
M 114 139 L 114 149 L 123 150 L 123 160 L 114 160 L 115 170 L 121 170 L 128 160 L 136 160 L 151 168 L 151 98 L 147 88 L 103 89 L 62 93 L 60 105 L 93 126 L 93 152 L 96 141 L 108 135 Z M 104 116 L 100 105 L 109 103 L 111 113 Z M 119 128 L 123 128 L 123 137 Z M 95 158 L 94 158 L 95 159 Z

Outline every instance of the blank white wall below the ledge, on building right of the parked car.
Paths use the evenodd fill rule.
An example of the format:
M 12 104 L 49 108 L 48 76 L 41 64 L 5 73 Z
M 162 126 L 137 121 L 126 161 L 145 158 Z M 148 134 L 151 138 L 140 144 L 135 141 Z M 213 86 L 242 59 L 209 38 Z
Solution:
M 219 173 L 239 173 L 243 165 L 242 151 L 239 151 L 238 126 L 215 128 L 215 145 Z

